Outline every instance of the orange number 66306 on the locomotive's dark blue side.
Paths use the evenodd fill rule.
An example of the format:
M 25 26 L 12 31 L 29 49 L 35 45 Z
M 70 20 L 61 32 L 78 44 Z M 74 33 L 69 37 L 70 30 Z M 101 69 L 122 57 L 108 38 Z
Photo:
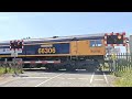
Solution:
M 38 54 L 52 54 L 55 53 L 55 47 L 44 47 L 44 48 L 38 48 Z

